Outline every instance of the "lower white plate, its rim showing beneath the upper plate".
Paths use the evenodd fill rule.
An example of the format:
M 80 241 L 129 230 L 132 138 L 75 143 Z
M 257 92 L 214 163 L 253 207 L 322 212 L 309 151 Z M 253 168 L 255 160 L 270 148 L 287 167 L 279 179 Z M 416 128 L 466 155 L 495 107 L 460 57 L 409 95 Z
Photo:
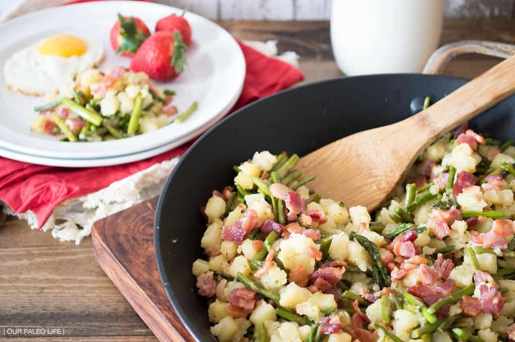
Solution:
M 5 149 L 0 147 L 0 155 L 6 158 L 25 161 L 26 163 L 39 164 L 39 165 L 48 165 L 48 166 L 60 166 L 60 167 L 73 167 L 73 168 L 89 168 L 89 167 L 97 167 L 97 166 L 110 166 L 110 165 L 119 165 L 131 163 L 132 161 L 143 160 L 146 158 L 150 158 L 156 156 L 158 154 L 170 151 L 178 146 L 181 146 L 183 143 L 190 141 L 202 133 L 210 129 L 218 120 L 223 118 L 229 113 L 231 108 L 234 106 L 238 97 L 235 97 L 228 106 L 222 111 L 219 115 L 214 117 L 210 122 L 205 124 L 200 129 L 187 134 L 173 142 L 166 143 L 163 146 L 155 147 L 148 151 L 142 151 L 138 153 L 107 157 L 107 158 L 91 158 L 91 159 L 72 159 L 72 158 L 50 158 L 43 157 L 38 155 L 24 154 L 15 152 L 9 149 Z

